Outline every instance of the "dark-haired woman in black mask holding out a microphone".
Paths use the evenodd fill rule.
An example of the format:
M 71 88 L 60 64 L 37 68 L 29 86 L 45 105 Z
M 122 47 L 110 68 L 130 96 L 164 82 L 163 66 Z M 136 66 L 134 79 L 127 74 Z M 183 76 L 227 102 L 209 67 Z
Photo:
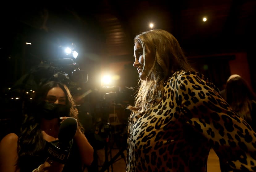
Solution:
M 83 166 L 93 161 L 94 150 L 78 121 L 65 164 L 52 160 L 45 150 L 48 143 L 58 140 L 60 123 L 70 117 L 77 119 L 74 100 L 67 86 L 57 81 L 44 84 L 36 93 L 34 105 L 25 116 L 20 134 L 10 133 L 1 140 L 0 171 L 82 172 Z

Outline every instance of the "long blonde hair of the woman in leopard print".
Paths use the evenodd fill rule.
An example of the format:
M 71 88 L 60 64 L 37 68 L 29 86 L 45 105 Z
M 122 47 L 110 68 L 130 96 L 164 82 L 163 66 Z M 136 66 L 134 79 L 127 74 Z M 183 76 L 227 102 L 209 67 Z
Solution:
M 161 29 L 149 30 L 140 33 L 134 38 L 143 50 L 144 66 L 146 63 L 145 45 L 154 56 L 154 62 L 149 69 L 147 79 L 139 80 L 134 106 L 128 109 L 139 113 L 158 104 L 163 97 L 163 83 L 179 70 L 194 70 L 188 63 L 182 48 L 176 38 L 169 32 Z

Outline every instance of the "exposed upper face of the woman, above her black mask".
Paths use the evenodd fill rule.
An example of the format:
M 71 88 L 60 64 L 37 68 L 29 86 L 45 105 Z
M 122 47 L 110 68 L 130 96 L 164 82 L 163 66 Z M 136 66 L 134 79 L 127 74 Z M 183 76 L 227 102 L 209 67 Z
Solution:
M 45 101 L 54 104 L 66 104 L 66 96 L 60 87 L 54 87 L 47 93 Z

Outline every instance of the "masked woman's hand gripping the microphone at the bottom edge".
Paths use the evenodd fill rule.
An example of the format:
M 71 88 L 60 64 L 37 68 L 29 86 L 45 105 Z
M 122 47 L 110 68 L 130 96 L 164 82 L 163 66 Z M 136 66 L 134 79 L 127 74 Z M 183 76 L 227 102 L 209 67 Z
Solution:
M 48 157 L 46 161 L 39 167 L 38 172 L 61 172 L 64 164 L 50 160 Z

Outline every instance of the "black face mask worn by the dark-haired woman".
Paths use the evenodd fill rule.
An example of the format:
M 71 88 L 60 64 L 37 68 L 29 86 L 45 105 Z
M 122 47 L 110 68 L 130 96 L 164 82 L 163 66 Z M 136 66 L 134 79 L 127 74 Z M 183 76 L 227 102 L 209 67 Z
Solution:
M 44 101 L 39 105 L 38 110 L 40 116 L 46 120 L 69 116 L 69 108 L 63 104 L 54 104 Z

